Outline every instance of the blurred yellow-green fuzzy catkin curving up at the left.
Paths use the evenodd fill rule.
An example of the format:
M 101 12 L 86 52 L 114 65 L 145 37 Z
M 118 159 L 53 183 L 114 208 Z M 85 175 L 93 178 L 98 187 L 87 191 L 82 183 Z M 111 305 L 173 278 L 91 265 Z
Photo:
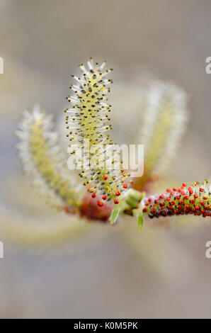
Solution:
M 18 154 L 23 169 L 35 186 L 44 193 L 46 201 L 62 208 L 76 208 L 80 203 L 79 189 L 67 172 L 57 133 L 52 132 L 52 116 L 45 115 L 40 106 L 25 111 L 16 134 L 20 137 Z

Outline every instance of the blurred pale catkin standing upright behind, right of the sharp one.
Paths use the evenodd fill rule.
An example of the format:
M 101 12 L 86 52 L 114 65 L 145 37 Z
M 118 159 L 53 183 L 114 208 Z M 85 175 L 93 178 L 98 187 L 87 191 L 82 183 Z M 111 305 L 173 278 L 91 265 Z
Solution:
M 166 173 L 186 130 L 186 104 L 186 94 L 177 86 L 161 81 L 150 86 L 139 139 L 144 145 L 144 176 L 136 179 L 135 188 Z

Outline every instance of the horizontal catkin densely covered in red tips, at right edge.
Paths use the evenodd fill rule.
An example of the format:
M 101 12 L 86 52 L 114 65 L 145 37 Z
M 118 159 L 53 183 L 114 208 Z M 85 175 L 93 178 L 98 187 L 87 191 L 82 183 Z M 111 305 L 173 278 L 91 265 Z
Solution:
M 142 205 L 144 215 L 149 218 L 160 216 L 194 214 L 211 216 L 211 186 L 207 179 L 200 186 L 199 182 L 186 187 L 166 189 L 165 193 L 145 198 Z

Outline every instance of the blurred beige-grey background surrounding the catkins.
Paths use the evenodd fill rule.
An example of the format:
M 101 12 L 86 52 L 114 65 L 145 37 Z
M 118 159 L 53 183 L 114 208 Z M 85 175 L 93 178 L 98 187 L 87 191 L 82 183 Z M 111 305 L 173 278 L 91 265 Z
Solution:
M 130 219 L 114 229 L 89 224 L 63 242 L 72 221 L 30 190 L 13 135 L 23 109 L 38 101 L 59 118 L 77 64 L 106 59 L 113 90 L 144 71 L 188 92 L 190 123 L 169 179 L 203 180 L 211 174 L 210 15 L 209 0 L 1 0 L 0 317 L 210 317 L 209 221 L 191 227 L 189 219 L 187 227 L 178 218 L 179 227 L 142 233 Z M 18 222 L 59 222 L 61 239 L 50 247 L 16 244 L 5 230 Z

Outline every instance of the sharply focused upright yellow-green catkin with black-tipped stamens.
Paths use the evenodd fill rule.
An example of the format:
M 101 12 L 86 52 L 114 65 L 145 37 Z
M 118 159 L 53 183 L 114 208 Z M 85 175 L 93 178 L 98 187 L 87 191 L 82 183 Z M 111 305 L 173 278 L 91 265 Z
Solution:
M 69 113 L 65 121 L 67 137 L 71 145 L 78 145 L 78 148 L 84 151 L 83 158 L 76 159 L 75 162 L 76 167 L 82 169 L 79 176 L 84 178 L 84 186 L 95 196 L 114 201 L 117 196 L 125 193 L 127 175 L 121 170 L 121 166 L 119 169 L 115 168 L 120 159 L 119 153 L 108 153 L 108 147 L 113 145 L 110 135 L 107 134 L 108 130 L 112 129 L 108 123 L 111 105 L 107 98 L 110 91 L 108 85 L 112 80 L 106 76 L 113 69 L 103 71 L 105 62 L 101 65 L 94 64 L 92 58 L 87 65 L 85 67 L 84 64 L 79 64 L 81 77 L 72 75 L 78 84 L 70 86 L 74 94 L 67 96 L 67 100 L 72 106 L 64 110 Z M 88 144 L 88 147 L 85 147 L 85 144 Z M 74 148 L 71 153 L 76 154 Z M 108 168 L 108 165 L 111 167 Z

